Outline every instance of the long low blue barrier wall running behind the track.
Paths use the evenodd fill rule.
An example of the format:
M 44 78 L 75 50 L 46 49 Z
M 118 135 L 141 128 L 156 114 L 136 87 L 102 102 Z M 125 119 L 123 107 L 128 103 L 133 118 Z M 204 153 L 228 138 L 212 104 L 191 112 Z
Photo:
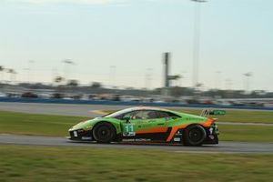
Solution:
M 15 98 L 0 97 L 0 102 L 18 103 L 47 103 L 47 104 L 83 104 L 83 105 L 112 105 L 112 106 L 174 106 L 174 107 L 193 107 L 193 108 L 235 108 L 235 109 L 257 109 L 273 110 L 268 106 L 223 106 L 223 105 L 200 105 L 200 104 L 179 104 L 179 103 L 153 103 L 153 102 L 125 102 L 109 100 L 73 100 L 57 98 Z

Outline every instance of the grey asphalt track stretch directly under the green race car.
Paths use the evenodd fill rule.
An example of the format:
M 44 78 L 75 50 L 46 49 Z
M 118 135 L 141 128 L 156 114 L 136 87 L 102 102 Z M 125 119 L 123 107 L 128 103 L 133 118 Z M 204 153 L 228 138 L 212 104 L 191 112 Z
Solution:
M 0 145 L 28 145 L 53 147 L 90 147 L 90 148 L 119 148 L 119 149 L 158 149 L 179 153 L 247 153 L 273 154 L 273 143 L 220 142 L 219 145 L 203 147 L 184 147 L 167 144 L 96 144 L 95 142 L 75 142 L 65 137 L 49 136 L 14 136 L 0 135 Z M 0 146 L 1 147 L 1 146 Z

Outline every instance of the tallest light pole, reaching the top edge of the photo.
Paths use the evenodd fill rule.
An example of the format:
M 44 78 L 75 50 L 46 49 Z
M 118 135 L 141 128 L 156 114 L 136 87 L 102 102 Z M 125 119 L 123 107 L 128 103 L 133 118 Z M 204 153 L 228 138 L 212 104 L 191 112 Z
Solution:
M 198 71 L 199 71 L 199 55 L 200 55 L 200 3 L 205 3 L 205 0 L 191 0 L 196 3 L 195 19 L 194 19 L 194 44 L 193 44 L 193 87 L 197 89 Z

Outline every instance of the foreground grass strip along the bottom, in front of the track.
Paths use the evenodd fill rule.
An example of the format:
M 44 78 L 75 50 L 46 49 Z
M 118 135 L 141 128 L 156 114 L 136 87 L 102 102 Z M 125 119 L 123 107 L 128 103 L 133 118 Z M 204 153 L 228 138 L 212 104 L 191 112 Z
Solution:
M 0 146 L 0 181 L 271 181 L 273 155 Z

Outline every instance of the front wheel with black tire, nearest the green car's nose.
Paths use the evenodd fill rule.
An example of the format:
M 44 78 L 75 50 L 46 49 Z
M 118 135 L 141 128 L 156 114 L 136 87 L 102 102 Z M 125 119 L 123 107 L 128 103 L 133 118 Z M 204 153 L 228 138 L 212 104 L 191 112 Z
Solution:
M 116 138 L 116 129 L 110 123 L 99 123 L 93 129 L 93 136 L 98 143 L 109 143 Z

